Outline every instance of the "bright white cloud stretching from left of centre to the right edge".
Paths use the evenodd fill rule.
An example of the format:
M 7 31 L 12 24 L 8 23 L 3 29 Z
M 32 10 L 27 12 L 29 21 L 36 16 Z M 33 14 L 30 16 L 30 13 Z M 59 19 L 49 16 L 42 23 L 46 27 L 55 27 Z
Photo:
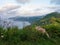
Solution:
M 29 10 L 28 10 L 29 9 Z M 18 10 L 17 14 L 20 16 L 40 16 L 40 15 L 45 15 L 51 12 L 59 11 L 60 6 L 47 6 L 47 7 L 41 7 L 41 8 L 24 8 L 22 10 Z

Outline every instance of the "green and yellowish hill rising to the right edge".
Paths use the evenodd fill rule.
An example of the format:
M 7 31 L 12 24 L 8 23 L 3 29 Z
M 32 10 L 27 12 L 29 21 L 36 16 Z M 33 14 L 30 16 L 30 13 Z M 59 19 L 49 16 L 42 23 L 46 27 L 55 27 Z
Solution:
M 60 23 L 60 13 L 53 12 L 53 13 L 47 14 L 44 18 L 36 21 L 34 24 L 47 25 L 51 23 Z

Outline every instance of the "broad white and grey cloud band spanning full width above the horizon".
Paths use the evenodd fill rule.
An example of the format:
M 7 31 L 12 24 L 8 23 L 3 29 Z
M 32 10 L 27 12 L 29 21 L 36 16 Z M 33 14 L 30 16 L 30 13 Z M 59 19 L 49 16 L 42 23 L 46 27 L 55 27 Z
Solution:
M 59 6 L 46 6 L 46 7 L 20 7 L 17 5 L 5 5 L 0 8 L 0 15 L 6 17 L 12 16 L 41 16 L 54 11 L 59 11 Z

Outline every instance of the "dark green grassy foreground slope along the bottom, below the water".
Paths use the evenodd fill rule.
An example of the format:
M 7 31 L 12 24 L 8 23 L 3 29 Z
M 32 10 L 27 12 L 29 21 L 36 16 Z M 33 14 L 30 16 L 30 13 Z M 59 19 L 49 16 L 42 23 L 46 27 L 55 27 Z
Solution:
M 33 27 L 24 29 L 18 29 L 17 27 L 3 29 L 0 27 L 0 45 L 60 45 L 59 30 L 50 30 L 51 27 L 47 29 L 50 38 L 42 35 Z

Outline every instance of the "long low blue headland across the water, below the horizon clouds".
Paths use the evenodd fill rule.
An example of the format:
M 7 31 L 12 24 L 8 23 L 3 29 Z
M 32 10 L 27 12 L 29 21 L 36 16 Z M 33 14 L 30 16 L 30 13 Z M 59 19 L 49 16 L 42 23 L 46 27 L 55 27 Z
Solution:
M 20 16 L 17 16 L 17 17 L 12 17 L 12 18 L 9 18 L 9 19 L 12 19 L 14 21 L 28 21 L 30 23 L 33 23 L 37 20 L 40 20 L 43 17 L 44 16 L 33 16 L 33 17 L 20 17 Z

